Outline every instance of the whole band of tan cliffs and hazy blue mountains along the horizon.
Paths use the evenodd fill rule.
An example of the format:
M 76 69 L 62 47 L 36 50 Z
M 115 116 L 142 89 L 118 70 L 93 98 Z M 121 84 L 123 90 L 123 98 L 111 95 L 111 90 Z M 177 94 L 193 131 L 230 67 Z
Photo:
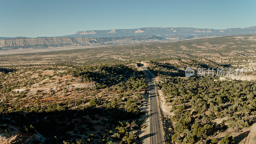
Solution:
M 78 45 L 117 45 L 150 42 L 168 42 L 212 36 L 256 34 L 256 26 L 248 28 L 135 28 L 77 31 L 72 35 L 56 37 L 0 37 L 0 50 Z

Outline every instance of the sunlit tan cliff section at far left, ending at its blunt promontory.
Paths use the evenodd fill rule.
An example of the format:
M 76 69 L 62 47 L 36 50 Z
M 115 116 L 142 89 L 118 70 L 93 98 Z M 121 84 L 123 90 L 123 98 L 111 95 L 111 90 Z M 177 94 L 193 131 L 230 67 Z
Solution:
M 99 42 L 90 40 L 86 37 L 67 38 L 28 38 L 28 39 L 5 39 L 0 40 L 0 49 L 6 48 L 36 48 L 36 47 L 56 47 L 56 46 L 73 46 L 73 45 L 91 45 Z

